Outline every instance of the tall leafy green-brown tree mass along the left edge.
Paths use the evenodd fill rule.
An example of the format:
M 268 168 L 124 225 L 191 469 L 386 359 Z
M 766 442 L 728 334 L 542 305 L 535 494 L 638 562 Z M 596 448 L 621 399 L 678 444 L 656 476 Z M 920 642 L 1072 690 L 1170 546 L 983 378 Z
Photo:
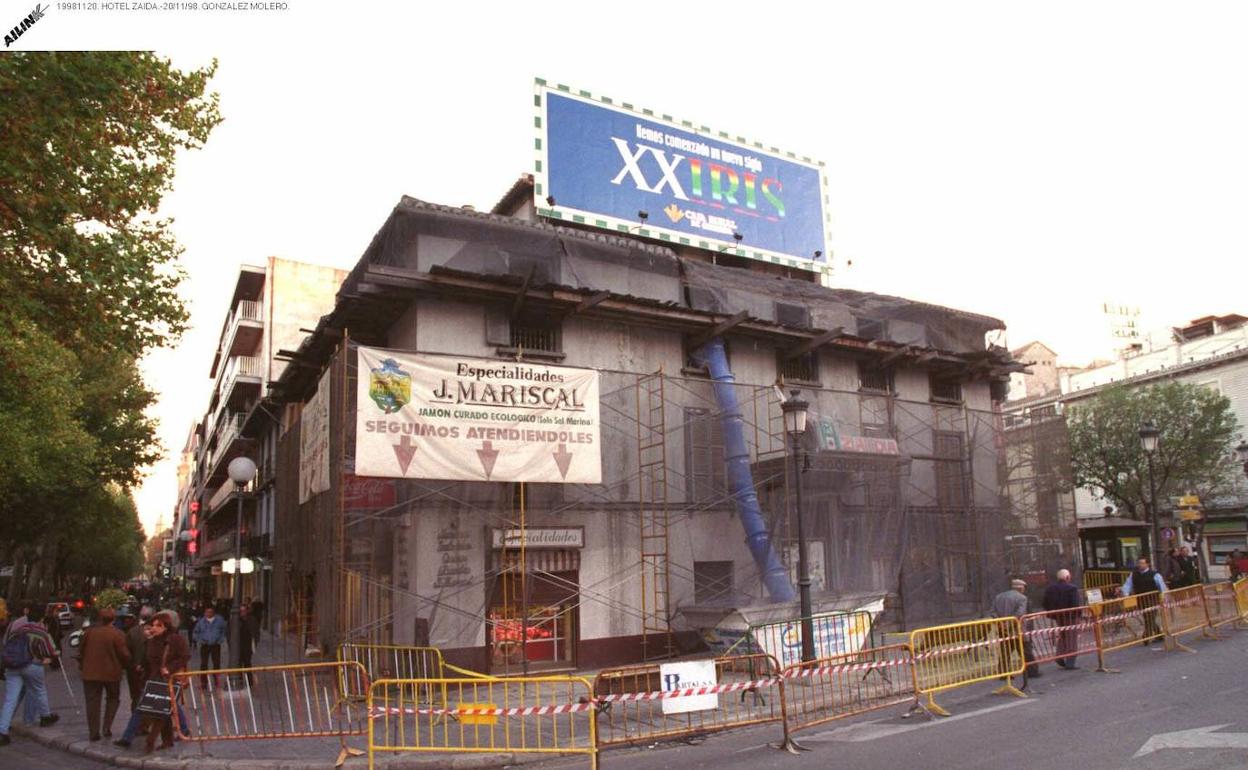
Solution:
M 181 247 L 156 212 L 177 154 L 221 121 L 206 92 L 215 70 L 183 72 L 146 52 L 0 57 L 0 562 L 17 567 L 10 595 L 71 568 L 104 569 L 72 538 L 107 542 L 121 554 L 107 572 L 135 572 L 142 533 L 129 488 L 160 454 L 137 361 L 187 321 Z

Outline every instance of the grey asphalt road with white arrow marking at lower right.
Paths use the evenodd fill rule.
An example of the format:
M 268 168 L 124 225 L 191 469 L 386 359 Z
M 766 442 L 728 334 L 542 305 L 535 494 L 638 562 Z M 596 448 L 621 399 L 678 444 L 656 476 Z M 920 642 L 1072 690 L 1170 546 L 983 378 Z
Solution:
M 901 718 L 905 708 L 840 720 L 797 734 L 810 751 L 769 745 L 779 725 L 709 736 L 699 745 L 610 750 L 604 768 L 758 770 L 759 768 L 957 768 L 1071 770 L 1223 770 L 1248 768 L 1248 631 L 1189 641 L 1197 654 L 1133 648 L 1063 671 L 1043 666 L 1027 699 L 992 695 L 987 684 L 937 696 L 952 718 Z M 1226 725 L 1226 726 L 1221 726 Z M 1199 730 L 1218 726 L 1216 730 Z M 1164 734 L 1179 733 L 1166 736 Z M 1161 735 L 1161 738 L 1156 738 Z M 1152 741 L 1151 745 L 1149 741 Z M 1173 744 L 1178 748 L 1161 748 Z M 1148 748 L 1146 749 L 1146 745 Z M 1207 746 L 1207 748 L 1206 748 Z M 1139 756 L 1136 756 L 1141 750 Z M 575 761 L 550 768 L 584 766 Z

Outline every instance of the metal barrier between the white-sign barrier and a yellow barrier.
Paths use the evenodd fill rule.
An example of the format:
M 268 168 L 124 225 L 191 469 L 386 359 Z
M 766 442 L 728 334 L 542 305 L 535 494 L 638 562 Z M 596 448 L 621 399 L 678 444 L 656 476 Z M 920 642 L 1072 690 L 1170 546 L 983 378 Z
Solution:
M 917 705 L 915 661 L 909 644 L 797 663 L 780 674 L 784 744 L 804 749 L 794 733 L 836 719 L 911 703 Z

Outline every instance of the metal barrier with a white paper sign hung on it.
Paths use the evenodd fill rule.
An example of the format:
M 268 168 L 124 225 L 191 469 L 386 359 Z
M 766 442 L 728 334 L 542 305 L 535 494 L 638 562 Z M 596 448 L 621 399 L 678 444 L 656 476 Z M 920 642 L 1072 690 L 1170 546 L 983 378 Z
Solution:
M 695 696 L 674 696 L 673 690 L 684 690 L 680 680 L 665 681 L 665 678 L 689 671 L 685 668 L 689 663 L 698 661 L 622 666 L 599 673 L 594 678 L 598 744 L 688 738 L 780 720 L 780 666 L 770 655 L 716 658 L 715 681 L 698 681 Z

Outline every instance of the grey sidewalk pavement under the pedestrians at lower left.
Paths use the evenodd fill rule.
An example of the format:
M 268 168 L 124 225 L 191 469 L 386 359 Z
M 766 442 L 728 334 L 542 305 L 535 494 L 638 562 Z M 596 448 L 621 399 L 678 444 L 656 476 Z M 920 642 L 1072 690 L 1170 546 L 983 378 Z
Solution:
M 225 650 L 223 650 L 225 651 Z M 90 759 L 109 763 L 119 768 L 137 768 L 142 770 L 331 770 L 338 758 L 339 741 L 336 738 L 302 739 L 251 739 L 215 741 L 178 741 L 172 749 L 144 755 L 144 738 L 134 741 L 130 749 L 112 745 L 114 739 L 105 738 L 91 743 L 87 740 L 86 715 L 82 710 L 82 683 L 79 679 L 77 661 L 74 651 L 67 653 L 65 674 L 49 669 L 46 673 L 47 698 L 52 711 L 60 714 L 60 721 L 47 728 L 24 726 L 20 724 L 21 709 L 14 720 L 11 734 L 15 740 L 35 740 L 50 749 L 79 754 Z M 225 656 L 225 655 L 223 655 Z M 300 659 L 291 645 L 272 639 L 266 634 L 256 651 L 253 665 L 278 665 L 283 663 L 312 663 Z M 192 664 L 198 663 L 198 655 L 192 655 Z M 66 689 L 66 675 L 70 689 Z M 122 684 L 121 708 L 112 724 L 114 738 L 121 735 L 130 718 L 130 696 Z M 2 688 L 0 688 L 2 691 Z M 347 739 L 347 745 L 367 750 L 367 738 L 363 735 Z M 0 764 L 4 764 L 4 748 L 0 748 Z M 540 754 L 436 754 L 419 755 L 378 755 L 377 768 L 386 770 L 433 769 L 475 770 L 503 768 L 527 761 L 549 759 Z M 368 766 L 367 756 L 348 758 L 346 769 Z

